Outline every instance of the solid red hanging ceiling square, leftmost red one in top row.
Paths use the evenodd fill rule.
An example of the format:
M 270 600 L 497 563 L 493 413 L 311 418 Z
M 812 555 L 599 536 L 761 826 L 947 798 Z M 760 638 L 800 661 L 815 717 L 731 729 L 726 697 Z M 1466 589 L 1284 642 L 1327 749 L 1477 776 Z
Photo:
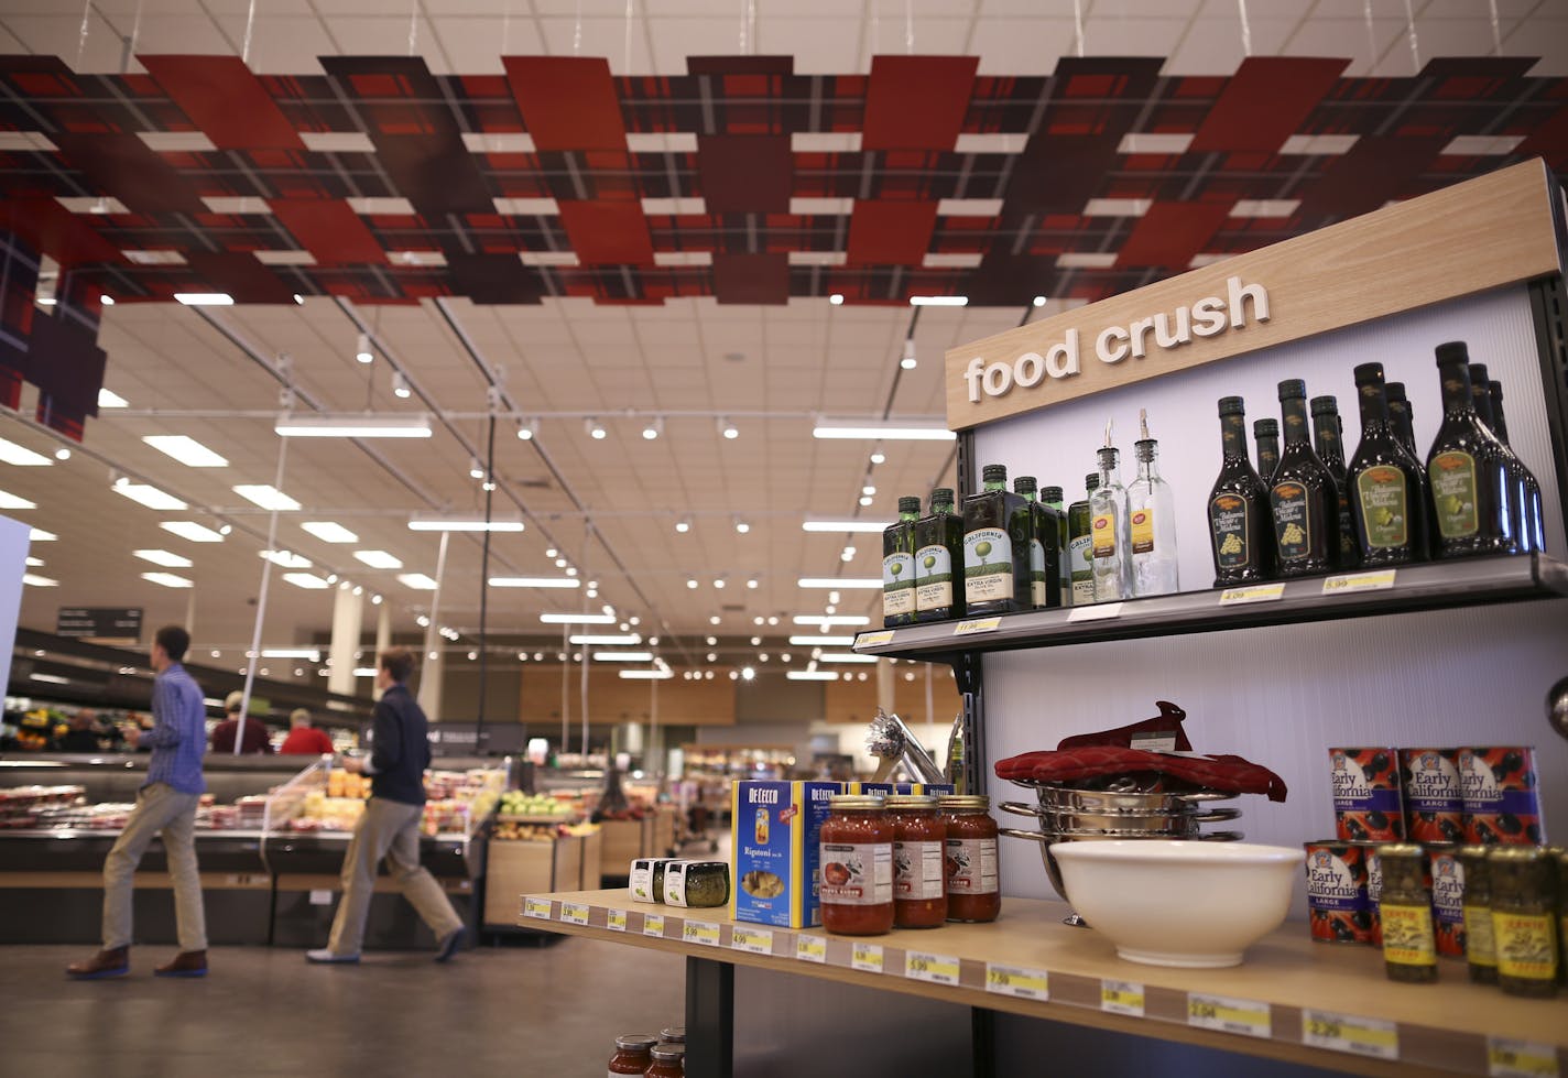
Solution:
M 293 124 L 238 56 L 136 56 L 221 150 L 303 150 Z

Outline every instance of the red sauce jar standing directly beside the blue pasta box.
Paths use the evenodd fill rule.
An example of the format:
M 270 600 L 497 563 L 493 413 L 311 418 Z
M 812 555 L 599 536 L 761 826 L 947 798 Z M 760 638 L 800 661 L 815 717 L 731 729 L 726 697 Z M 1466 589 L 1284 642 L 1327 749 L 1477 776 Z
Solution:
M 822 926 L 839 935 L 892 931 L 892 819 L 881 798 L 837 794 L 822 821 Z

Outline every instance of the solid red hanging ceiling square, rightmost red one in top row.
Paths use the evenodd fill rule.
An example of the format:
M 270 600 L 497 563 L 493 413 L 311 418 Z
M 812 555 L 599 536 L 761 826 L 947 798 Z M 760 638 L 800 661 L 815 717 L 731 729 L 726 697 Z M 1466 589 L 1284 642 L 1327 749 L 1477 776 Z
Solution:
M 1348 60 L 1309 56 L 1248 56 L 1214 102 L 1189 152 L 1272 154 L 1301 130 L 1301 121 L 1348 64 Z

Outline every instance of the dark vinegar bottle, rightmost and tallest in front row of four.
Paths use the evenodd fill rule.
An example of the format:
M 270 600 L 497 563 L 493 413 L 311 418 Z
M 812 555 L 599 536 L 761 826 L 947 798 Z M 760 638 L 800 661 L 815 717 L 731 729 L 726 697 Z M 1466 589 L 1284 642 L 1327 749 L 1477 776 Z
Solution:
M 1438 345 L 1443 426 L 1427 453 L 1432 489 L 1433 558 L 1504 555 L 1518 545 L 1508 505 L 1508 465 L 1502 442 L 1475 414 L 1469 349 L 1463 340 Z

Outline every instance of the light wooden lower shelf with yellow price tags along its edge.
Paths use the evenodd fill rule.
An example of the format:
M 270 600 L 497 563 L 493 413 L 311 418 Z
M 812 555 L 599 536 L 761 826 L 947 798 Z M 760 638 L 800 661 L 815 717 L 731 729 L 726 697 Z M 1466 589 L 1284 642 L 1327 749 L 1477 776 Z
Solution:
M 618 888 L 524 895 L 517 924 L 1353 1073 L 1410 1073 L 1411 1065 L 1468 1075 L 1534 1073 L 1491 1065 L 1510 1051 L 1552 1067 L 1538 1073 L 1568 1073 L 1568 1004 L 1469 984 L 1461 962 L 1441 962 L 1438 984 L 1396 984 L 1385 978 L 1383 959 L 1372 948 L 1312 943 L 1306 928 L 1292 923 L 1253 946 L 1245 965 L 1171 970 L 1118 959 L 1105 937 L 1062 924 L 1065 913 L 1062 903 L 1008 898 L 994 924 L 858 940 L 822 929 L 742 924 L 723 907 L 633 903 Z M 662 928 L 655 931 L 651 917 L 662 917 Z M 872 956 L 881 971 L 856 967 L 858 946 L 877 948 Z M 1105 993 L 1118 992 L 1116 986 L 1137 986 L 1132 995 L 1142 993 L 1142 1015 L 1107 1009 Z M 1021 995 L 1041 990 L 1047 998 Z M 1195 997 L 1220 997 L 1217 1014 L 1207 1017 Z M 1110 997 L 1112 1003 L 1118 998 L 1127 997 Z M 1344 1020 L 1342 1047 L 1311 1042 L 1308 1012 Z M 1370 1054 L 1380 1050 L 1394 1051 L 1397 1062 Z

